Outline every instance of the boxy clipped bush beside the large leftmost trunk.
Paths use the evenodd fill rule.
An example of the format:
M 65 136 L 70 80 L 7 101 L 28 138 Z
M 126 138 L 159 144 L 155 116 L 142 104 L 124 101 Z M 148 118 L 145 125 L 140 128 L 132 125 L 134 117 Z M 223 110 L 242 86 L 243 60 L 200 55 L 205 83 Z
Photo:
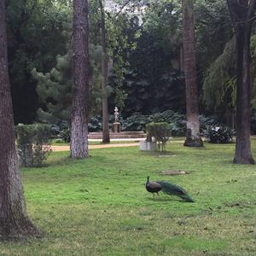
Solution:
M 17 149 L 21 166 L 42 166 L 51 152 L 50 125 L 17 125 Z

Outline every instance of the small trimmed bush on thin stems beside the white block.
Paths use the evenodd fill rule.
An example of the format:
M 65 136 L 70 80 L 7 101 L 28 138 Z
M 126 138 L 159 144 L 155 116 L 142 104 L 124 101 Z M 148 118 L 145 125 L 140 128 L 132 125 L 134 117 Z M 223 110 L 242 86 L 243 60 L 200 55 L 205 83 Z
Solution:
M 155 142 L 158 144 L 158 150 L 160 151 L 160 144 L 162 145 L 162 151 L 164 151 L 166 142 L 171 136 L 171 125 L 166 122 L 162 123 L 149 123 L 147 125 L 148 137 L 154 137 Z

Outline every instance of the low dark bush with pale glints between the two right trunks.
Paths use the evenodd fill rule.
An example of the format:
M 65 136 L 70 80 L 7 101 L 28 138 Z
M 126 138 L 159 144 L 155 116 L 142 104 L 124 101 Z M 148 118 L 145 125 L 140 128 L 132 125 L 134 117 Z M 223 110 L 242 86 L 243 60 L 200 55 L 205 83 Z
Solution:
M 232 143 L 235 131 L 227 125 L 209 126 L 204 132 L 209 143 Z

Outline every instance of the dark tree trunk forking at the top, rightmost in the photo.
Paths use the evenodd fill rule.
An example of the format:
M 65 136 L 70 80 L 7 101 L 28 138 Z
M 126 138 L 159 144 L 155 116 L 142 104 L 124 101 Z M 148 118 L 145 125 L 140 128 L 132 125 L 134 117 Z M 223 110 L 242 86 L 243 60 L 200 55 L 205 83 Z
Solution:
M 254 164 L 250 143 L 250 38 L 256 0 L 227 0 L 236 32 L 236 154 L 234 163 Z

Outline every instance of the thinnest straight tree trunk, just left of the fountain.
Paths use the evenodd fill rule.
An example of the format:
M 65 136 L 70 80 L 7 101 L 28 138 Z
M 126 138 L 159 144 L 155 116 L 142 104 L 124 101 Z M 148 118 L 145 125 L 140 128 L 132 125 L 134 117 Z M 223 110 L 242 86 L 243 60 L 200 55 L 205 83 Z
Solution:
M 108 124 L 108 96 L 105 93 L 108 84 L 108 55 L 106 42 L 106 22 L 105 11 L 102 0 L 99 0 L 101 7 L 101 29 L 102 29 L 102 143 L 110 143 L 109 138 L 109 124 Z

